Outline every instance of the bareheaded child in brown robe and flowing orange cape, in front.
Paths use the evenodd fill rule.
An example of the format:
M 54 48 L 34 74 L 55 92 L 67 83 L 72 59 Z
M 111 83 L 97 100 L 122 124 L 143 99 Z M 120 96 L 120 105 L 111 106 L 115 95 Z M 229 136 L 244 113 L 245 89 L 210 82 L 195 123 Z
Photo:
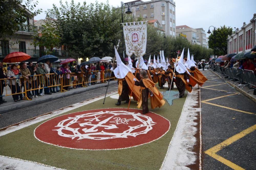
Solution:
M 148 113 L 148 98 L 151 97 L 151 108 L 162 107 L 165 103 L 163 95 L 155 87 L 155 83 L 152 82 L 147 75 L 146 70 L 140 71 L 141 80 L 133 79 L 136 86 L 140 86 L 140 97 L 138 99 L 138 106 L 140 108 L 142 105 L 142 113 Z

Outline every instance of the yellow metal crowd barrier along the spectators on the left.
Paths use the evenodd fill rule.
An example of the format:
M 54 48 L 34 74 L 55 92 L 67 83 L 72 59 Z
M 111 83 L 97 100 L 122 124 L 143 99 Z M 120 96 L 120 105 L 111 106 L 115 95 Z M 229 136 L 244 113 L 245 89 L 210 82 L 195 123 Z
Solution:
M 31 100 L 28 98 L 30 93 L 32 93 L 34 96 L 39 96 L 42 93 L 42 89 L 45 89 L 46 93 L 50 91 L 55 91 L 54 88 L 56 88 L 56 91 L 65 92 L 69 90 L 69 87 L 87 87 L 93 82 L 105 83 L 109 80 L 109 77 L 111 77 L 112 80 L 115 79 L 115 76 L 113 72 L 111 72 L 111 70 L 85 72 L 84 74 L 70 73 L 58 75 L 56 73 L 51 73 L 45 75 L 31 75 L 26 81 L 23 78 L 0 79 L 0 82 L 3 82 L 0 83 L 0 93 L 4 93 L 2 97 L 13 95 L 14 99 L 15 97 L 19 97 L 24 94 L 24 100 Z M 19 83 L 11 85 L 12 81 L 16 81 L 16 79 L 19 79 Z M 6 87 L 3 91 L 1 91 L 2 84 L 4 84 L 4 87 Z M 21 86 L 19 86 L 19 84 Z M 9 86 L 11 92 L 7 90 L 7 86 Z M 22 86 L 24 87 L 23 92 Z

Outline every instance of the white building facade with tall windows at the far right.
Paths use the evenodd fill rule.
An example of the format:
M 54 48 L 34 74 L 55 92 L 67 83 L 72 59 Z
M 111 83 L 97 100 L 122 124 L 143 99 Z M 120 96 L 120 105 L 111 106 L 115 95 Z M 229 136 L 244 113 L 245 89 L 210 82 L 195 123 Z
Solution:
M 243 26 L 232 35 L 228 35 L 228 54 L 241 53 L 251 51 L 251 48 L 256 45 L 256 14 L 248 24 L 243 23 Z

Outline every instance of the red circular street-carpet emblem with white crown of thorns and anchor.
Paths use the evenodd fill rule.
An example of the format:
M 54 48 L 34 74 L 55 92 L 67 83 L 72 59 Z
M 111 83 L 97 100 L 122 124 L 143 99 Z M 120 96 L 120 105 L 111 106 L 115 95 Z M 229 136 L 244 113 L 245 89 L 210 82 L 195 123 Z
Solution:
M 109 108 L 61 115 L 40 124 L 35 137 L 72 149 L 124 149 L 159 139 L 170 128 L 164 117 L 142 110 Z

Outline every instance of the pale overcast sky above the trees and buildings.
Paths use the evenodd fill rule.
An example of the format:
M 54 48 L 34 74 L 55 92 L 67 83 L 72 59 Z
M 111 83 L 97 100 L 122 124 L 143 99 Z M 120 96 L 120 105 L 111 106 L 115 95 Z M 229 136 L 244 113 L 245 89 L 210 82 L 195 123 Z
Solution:
M 71 2 L 71 0 L 66 1 Z M 38 2 L 37 8 L 42 8 L 43 11 L 52 8 L 53 3 L 60 6 L 58 0 L 38 0 Z M 74 2 L 82 3 L 84 0 L 74 0 Z M 94 2 L 95 0 L 86 0 L 87 4 Z M 98 2 L 105 3 L 106 0 L 98 0 Z M 176 26 L 187 25 L 192 28 L 203 28 L 206 32 L 211 25 L 216 28 L 226 25 L 240 29 L 243 22 L 248 24 L 253 14 L 256 13 L 255 0 L 177 0 L 174 2 L 176 3 Z M 118 7 L 121 6 L 121 1 L 110 0 L 109 4 Z M 42 12 L 34 19 L 44 19 L 45 16 L 45 12 Z

